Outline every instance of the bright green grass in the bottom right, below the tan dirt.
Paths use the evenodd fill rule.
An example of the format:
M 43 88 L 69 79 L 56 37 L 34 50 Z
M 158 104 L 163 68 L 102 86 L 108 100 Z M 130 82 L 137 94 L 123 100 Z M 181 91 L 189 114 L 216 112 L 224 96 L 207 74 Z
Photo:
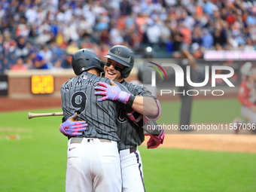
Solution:
M 140 147 L 148 192 L 256 191 L 256 154 Z

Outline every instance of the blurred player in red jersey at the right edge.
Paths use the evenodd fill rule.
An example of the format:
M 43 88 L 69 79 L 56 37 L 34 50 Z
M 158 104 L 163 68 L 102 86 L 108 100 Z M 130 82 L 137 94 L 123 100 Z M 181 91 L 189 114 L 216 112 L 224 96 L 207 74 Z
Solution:
M 246 123 L 256 123 L 256 69 L 251 69 L 251 62 L 245 62 L 241 73 L 244 75 L 238 91 L 238 100 L 242 104 L 241 114 Z M 233 120 L 235 133 L 239 131 L 239 123 L 245 122 L 239 118 Z

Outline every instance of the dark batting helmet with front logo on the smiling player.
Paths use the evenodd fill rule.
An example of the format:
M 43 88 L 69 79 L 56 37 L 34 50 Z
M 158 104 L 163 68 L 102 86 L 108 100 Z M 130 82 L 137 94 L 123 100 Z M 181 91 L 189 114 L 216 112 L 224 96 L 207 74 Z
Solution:
M 132 50 L 123 45 L 115 45 L 114 47 L 111 47 L 110 50 L 108 50 L 108 54 L 104 57 L 113 59 L 114 61 L 120 63 L 122 66 L 125 66 L 125 68 L 122 69 L 120 73 L 123 78 L 128 78 L 134 64 L 134 54 Z

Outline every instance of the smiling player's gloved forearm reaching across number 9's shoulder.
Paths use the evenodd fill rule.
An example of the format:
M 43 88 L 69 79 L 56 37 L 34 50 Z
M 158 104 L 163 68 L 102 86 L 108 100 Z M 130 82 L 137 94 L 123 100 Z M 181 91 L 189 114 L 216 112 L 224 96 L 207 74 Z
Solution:
M 133 96 L 132 94 L 121 90 L 119 86 L 113 83 L 113 81 L 111 81 L 112 86 L 101 82 L 98 84 L 101 86 L 94 87 L 95 90 L 99 90 L 98 92 L 95 92 L 95 94 L 103 96 L 98 99 L 98 101 L 104 101 L 106 99 L 112 101 L 116 100 L 130 106 L 140 114 L 144 114 L 147 117 L 149 116 L 148 118 L 151 120 L 157 120 L 157 118 L 160 117 L 161 110 L 160 102 L 158 102 L 158 100 L 147 96 Z

